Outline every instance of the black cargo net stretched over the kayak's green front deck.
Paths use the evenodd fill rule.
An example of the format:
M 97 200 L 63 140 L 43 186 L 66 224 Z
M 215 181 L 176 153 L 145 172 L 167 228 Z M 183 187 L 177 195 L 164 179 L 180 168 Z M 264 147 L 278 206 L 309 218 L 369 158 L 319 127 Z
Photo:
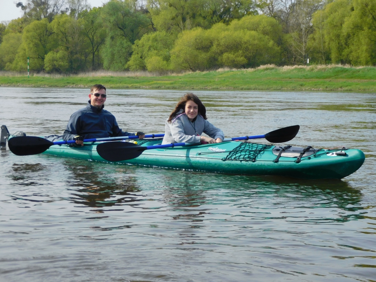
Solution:
M 231 150 L 223 161 L 251 161 L 255 162 L 265 150 L 270 149 L 273 145 L 257 144 L 242 142 L 238 147 Z

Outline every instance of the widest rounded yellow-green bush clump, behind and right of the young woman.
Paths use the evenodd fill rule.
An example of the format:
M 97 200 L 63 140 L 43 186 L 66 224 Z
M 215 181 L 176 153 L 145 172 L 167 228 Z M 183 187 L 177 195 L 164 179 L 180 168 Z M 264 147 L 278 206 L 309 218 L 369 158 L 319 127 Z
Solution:
M 269 21 L 264 16 L 247 17 L 228 26 L 218 23 L 208 30 L 197 27 L 183 31 L 171 50 L 172 69 L 196 71 L 221 66 L 246 68 L 279 64 L 281 49 L 265 35 L 270 34 L 279 41 L 281 27 L 277 21 L 270 19 L 277 30 L 273 31 L 260 24 Z

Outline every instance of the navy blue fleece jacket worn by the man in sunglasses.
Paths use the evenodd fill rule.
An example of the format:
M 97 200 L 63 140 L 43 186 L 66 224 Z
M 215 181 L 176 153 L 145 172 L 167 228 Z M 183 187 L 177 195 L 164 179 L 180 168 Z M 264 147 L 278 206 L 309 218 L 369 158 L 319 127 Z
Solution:
M 74 140 L 74 136 L 83 136 L 83 139 L 107 138 L 115 136 L 130 136 L 134 133 L 123 132 L 109 111 L 96 108 L 90 104 L 74 112 L 63 134 L 63 140 Z

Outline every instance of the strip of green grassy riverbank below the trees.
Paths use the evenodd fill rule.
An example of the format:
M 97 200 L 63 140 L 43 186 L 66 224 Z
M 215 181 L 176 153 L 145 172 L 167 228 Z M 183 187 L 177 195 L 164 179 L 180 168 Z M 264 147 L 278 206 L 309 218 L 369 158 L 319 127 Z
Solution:
M 275 67 L 223 70 L 166 76 L 0 76 L 1 86 L 90 87 L 165 89 L 250 89 L 376 91 L 376 68 L 341 66 Z

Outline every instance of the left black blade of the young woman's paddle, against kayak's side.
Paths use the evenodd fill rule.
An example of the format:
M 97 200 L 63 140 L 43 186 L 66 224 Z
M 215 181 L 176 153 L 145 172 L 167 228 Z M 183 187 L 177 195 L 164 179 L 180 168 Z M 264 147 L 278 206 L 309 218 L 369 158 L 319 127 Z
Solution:
M 146 150 L 146 147 L 130 142 L 105 142 L 97 145 L 98 154 L 109 162 L 120 162 L 137 158 Z

